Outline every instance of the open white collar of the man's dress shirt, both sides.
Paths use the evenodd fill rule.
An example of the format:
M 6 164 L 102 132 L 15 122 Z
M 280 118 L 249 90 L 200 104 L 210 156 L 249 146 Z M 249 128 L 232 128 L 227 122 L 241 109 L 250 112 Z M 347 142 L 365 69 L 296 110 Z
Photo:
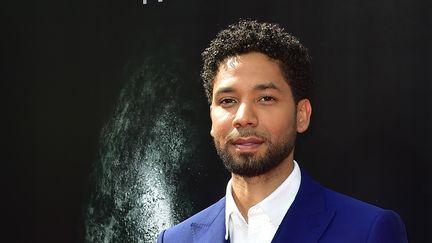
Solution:
M 226 196 L 225 196 L 225 239 L 229 236 L 229 224 L 231 220 L 231 214 L 237 212 L 239 215 L 240 211 L 235 204 L 232 196 L 231 182 L 228 181 Z M 294 169 L 291 174 L 274 190 L 270 195 L 264 198 L 261 202 L 253 206 L 260 207 L 264 213 L 270 218 L 270 222 L 279 227 L 285 214 L 288 212 L 295 196 L 300 188 L 301 173 L 297 162 L 294 160 Z M 249 209 L 250 210 L 250 209 Z

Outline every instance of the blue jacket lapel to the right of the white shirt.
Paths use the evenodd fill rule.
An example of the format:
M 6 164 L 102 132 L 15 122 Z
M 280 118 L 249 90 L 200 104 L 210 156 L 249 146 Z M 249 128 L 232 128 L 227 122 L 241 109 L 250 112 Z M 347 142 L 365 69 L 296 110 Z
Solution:
M 318 242 L 334 216 L 326 208 L 323 188 L 302 173 L 296 199 L 282 220 L 272 243 L 277 242 Z

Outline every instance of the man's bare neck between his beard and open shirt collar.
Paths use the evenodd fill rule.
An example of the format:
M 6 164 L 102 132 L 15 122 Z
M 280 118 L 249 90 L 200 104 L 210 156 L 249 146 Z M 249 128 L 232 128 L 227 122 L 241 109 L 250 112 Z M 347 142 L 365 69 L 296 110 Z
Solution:
M 261 202 L 270 195 L 291 174 L 294 169 L 292 153 L 271 171 L 255 176 L 243 177 L 232 174 L 232 194 L 237 208 L 248 221 L 249 208 Z

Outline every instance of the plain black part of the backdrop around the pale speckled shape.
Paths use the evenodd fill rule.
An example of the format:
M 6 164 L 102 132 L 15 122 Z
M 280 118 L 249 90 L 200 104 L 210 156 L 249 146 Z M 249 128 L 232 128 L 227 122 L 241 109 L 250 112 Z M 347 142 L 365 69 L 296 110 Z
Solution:
M 313 122 L 296 148 L 302 169 L 332 189 L 397 211 L 410 242 L 431 242 L 430 1 L 2 5 L 5 242 L 80 242 L 88 175 L 125 65 L 169 43 L 198 75 L 200 52 L 240 17 L 280 23 L 310 49 L 317 85 Z M 213 167 L 214 184 L 207 183 L 197 210 L 224 193 L 227 175 Z

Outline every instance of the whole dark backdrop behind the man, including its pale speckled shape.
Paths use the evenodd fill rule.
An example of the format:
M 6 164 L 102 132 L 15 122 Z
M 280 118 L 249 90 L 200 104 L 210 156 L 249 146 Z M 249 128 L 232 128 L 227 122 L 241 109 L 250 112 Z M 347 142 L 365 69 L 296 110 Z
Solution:
M 152 242 L 222 197 L 200 53 L 239 18 L 311 52 L 302 169 L 432 240 L 430 1 L 145 2 L 3 4 L 6 242 Z

